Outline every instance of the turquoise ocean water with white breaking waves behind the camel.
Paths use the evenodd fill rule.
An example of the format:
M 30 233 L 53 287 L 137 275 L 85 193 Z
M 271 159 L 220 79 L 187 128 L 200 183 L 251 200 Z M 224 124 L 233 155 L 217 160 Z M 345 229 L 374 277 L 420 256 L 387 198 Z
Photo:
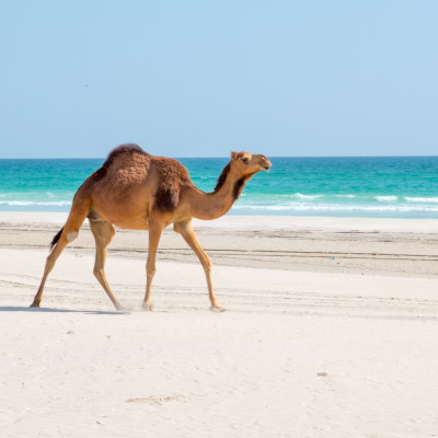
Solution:
M 68 211 L 104 159 L 0 160 L 0 210 Z M 211 192 L 228 159 L 180 159 Z M 438 218 L 438 157 L 272 158 L 233 215 Z

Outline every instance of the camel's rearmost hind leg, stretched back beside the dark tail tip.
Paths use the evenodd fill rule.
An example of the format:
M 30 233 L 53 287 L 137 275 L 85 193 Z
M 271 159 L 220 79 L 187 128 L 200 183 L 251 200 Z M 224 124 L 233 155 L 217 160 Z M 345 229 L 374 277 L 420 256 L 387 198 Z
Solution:
M 51 250 L 50 254 L 46 261 L 46 267 L 44 268 L 44 274 L 42 281 L 39 284 L 38 291 L 35 295 L 34 301 L 31 304 L 31 308 L 39 308 L 41 301 L 43 299 L 43 289 L 44 285 L 46 284 L 46 279 L 50 274 L 51 269 L 55 266 L 55 263 L 64 249 L 67 246 L 68 243 L 72 242 L 79 234 L 79 229 L 82 226 L 82 222 L 85 220 L 88 215 L 88 208 L 79 208 L 79 206 L 72 207 L 70 215 L 67 219 L 66 224 L 64 226 L 62 233 Z

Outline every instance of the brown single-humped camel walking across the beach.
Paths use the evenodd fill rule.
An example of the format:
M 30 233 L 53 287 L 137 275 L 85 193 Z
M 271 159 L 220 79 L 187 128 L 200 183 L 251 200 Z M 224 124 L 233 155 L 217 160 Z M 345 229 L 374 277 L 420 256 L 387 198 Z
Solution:
M 217 219 L 232 207 L 246 181 L 261 170 L 269 171 L 265 155 L 231 152 L 231 161 L 220 174 L 211 193 L 198 189 L 188 171 L 178 161 L 154 157 L 138 145 L 115 148 L 102 168 L 91 174 L 74 195 L 66 224 L 54 237 L 43 278 L 31 307 L 38 308 L 47 276 L 68 243 L 79 234 L 85 218 L 95 240 L 93 274 L 116 310 L 127 310 L 113 295 L 104 272 L 106 247 L 115 228 L 149 230 L 149 249 L 146 264 L 147 284 L 142 302 L 152 310 L 151 286 L 155 273 L 155 256 L 164 228 L 173 229 L 187 242 L 204 267 L 210 298 L 210 310 L 223 311 L 218 304 L 211 283 L 211 262 L 200 246 L 192 227 L 192 219 Z

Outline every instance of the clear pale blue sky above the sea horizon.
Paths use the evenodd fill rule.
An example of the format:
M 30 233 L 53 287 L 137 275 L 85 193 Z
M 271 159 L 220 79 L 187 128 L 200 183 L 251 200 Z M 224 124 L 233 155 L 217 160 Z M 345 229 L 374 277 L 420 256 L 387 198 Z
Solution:
M 438 1 L 0 2 L 0 158 L 438 154 Z

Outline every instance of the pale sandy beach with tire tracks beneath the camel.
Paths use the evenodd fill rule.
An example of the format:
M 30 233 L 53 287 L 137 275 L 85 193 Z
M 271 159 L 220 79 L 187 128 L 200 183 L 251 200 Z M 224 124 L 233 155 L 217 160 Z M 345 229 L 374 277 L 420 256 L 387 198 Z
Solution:
M 438 221 L 196 221 L 220 314 L 172 230 L 153 312 L 147 232 L 119 230 L 114 311 L 84 224 L 28 309 L 65 218 L 0 212 L 2 437 L 438 436 Z

